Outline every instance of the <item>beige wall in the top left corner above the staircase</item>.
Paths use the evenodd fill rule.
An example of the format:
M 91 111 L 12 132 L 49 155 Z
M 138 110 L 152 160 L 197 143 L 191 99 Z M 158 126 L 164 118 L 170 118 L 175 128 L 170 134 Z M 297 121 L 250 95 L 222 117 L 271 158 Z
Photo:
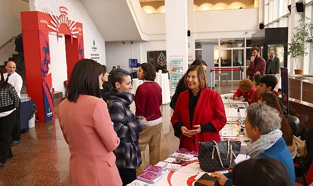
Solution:
M 21 33 L 21 13 L 29 11 L 28 2 L 22 0 L 0 0 L 0 46 Z M 13 40 L 0 49 L 0 65 L 4 65 L 15 51 Z

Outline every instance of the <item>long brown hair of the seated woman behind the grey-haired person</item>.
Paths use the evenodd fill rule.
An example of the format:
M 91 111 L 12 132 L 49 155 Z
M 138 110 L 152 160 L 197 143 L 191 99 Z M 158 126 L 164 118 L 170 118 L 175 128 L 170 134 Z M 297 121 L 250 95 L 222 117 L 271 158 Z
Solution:
M 292 129 L 289 126 L 288 121 L 286 120 L 283 111 L 280 108 L 280 104 L 278 102 L 277 96 L 274 93 L 264 92 L 260 94 L 260 99 L 265 101 L 267 105 L 275 108 L 279 114 L 282 116 L 282 120 L 280 123 L 280 130 L 283 132 L 283 138 L 286 141 L 287 146 L 292 145 Z

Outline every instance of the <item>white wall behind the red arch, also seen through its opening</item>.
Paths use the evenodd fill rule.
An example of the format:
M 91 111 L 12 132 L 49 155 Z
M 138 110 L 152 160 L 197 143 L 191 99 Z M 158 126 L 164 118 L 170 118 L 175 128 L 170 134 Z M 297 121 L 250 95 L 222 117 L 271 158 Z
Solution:
M 47 6 L 50 3 L 60 3 L 58 0 L 46 0 Z M 31 11 L 36 11 L 35 4 L 40 3 L 40 0 L 30 0 L 29 8 Z M 83 46 L 84 58 L 91 58 L 92 53 L 99 54 L 100 59 L 95 59 L 97 62 L 105 65 L 105 43 L 104 39 L 99 33 L 96 25 L 93 23 L 82 3 L 79 0 L 63 0 L 63 5 L 72 13 L 71 19 L 83 24 Z M 95 46 L 93 45 L 95 41 Z M 51 58 L 51 73 L 52 73 L 52 87 L 55 91 L 65 93 L 63 82 L 67 80 L 66 69 L 66 54 L 64 38 L 56 40 L 55 35 L 49 35 L 50 58 Z M 96 51 L 92 51 L 92 46 L 97 47 Z

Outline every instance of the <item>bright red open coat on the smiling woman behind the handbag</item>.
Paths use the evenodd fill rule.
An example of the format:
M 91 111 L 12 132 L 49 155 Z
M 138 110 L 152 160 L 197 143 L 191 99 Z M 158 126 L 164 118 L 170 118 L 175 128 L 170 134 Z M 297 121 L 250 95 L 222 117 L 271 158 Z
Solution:
M 173 116 L 171 118 L 172 125 L 176 122 L 182 122 L 188 130 L 192 130 L 190 128 L 188 104 L 189 90 L 179 94 Z M 185 147 L 190 151 L 199 151 L 199 144 L 195 144 L 195 142 L 220 140 L 219 131 L 226 124 L 224 104 L 219 93 L 205 88 L 201 90 L 196 108 L 194 110 L 192 126 L 208 124 L 209 122 L 214 125 L 217 132 L 208 131 L 199 133 L 192 138 L 186 137 L 181 133 L 179 149 Z

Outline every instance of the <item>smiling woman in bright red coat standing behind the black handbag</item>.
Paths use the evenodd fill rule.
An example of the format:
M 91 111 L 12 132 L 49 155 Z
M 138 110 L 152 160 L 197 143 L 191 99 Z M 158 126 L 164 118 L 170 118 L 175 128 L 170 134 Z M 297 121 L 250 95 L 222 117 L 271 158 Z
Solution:
M 205 70 L 192 66 L 187 70 L 185 84 L 189 90 L 181 93 L 175 105 L 171 123 L 179 149 L 198 151 L 197 141 L 220 140 L 219 131 L 226 124 L 224 104 L 219 93 L 208 89 Z

